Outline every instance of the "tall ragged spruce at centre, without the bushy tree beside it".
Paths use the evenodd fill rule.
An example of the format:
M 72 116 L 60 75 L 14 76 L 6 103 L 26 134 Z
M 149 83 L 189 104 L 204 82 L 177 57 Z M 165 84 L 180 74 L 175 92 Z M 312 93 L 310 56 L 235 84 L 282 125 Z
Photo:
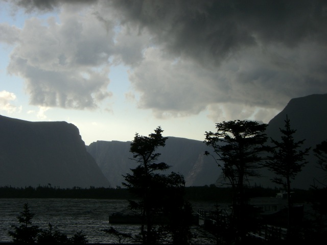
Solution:
M 159 146 L 165 146 L 167 137 L 161 135 L 163 131 L 160 127 L 154 130 L 154 133 L 149 137 L 135 134 L 134 140 L 130 146 L 130 152 L 133 153 L 133 160 L 137 162 L 137 167 L 131 169 L 132 175 L 124 176 L 127 183 L 123 186 L 127 187 L 129 191 L 135 194 L 141 201 L 130 200 L 130 208 L 141 212 L 141 235 L 144 244 L 153 244 L 157 240 L 157 232 L 153 226 L 153 216 L 157 212 L 160 203 L 154 199 L 157 186 L 154 174 L 157 170 L 166 170 L 169 166 L 166 163 L 155 163 L 160 156 L 155 153 Z M 153 189 L 155 187 L 155 189 Z

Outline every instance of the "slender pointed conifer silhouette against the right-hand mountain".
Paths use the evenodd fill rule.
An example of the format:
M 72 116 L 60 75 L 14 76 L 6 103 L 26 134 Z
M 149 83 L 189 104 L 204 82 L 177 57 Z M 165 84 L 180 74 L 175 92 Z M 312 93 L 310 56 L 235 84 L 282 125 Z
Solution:
M 291 181 L 295 179 L 295 176 L 301 171 L 302 167 L 308 162 L 305 156 L 308 155 L 310 148 L 300 150 L 300 146 L 305 141 L 294 140 L 294 134 L 296 130 L 291 129 L 290 120 L 286 116 L 285 128 L 279 129 L 282 133 L 281 141 L 271 139 L 273 147 L 271 149 L 272 155 L 268 156 L 268 161 L 264 163 L 264 166 L 268 167 L 278 177 L 275 177 L 272 181 L 277 184 L 283 185 L 287 190 L 288 197 L 288 232 L 291 226 Z

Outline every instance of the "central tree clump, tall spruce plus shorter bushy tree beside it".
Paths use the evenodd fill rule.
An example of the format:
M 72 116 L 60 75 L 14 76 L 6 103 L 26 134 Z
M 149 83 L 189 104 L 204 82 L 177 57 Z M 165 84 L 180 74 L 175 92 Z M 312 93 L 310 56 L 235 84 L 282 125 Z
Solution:
M 160 153 L 156 153 L 156 150 L 159 147 L 165 146 L 165 142 L 168 139 L 162 136 L 162 132 L 163 130 L 158 127 L 149 136 L 135 134 L 130 146 L 130 152 L 133 154 L 133 160 L 138 165 L 136 168 L 131 169 L 132 174 L 124 176 L 126 183 L 123 183 L 123 186 L 127 187 L 138 199 L 138 201 L 129 200 L 129 207 L 141 216 L 141 238 L 143 244 L 155 244 L 161 236 L 160 231 L 168 229 L 169 232 L 172 232 L 172 228 L 175 230 L 175 233 L 172 235 L 173 239 L 182 239 L 180 238 L 182 234 L 187 235 L 187 232 L 179 232 L 180 229 L 178 230 L 171 223 L 170 226 L 166 226 L 166 229 L 157 229 L 154 221 L 160 215 L 162 218 L 162 214 L 166 214 L 166 217 L 168 217 L 169 214 L 176 212 L 179 208 L 179 215 L 191 215 L 192 212 L 190 210 L 188 212 L 181 212 L 186 205 L 182 198 L 185 185 L 183 176 L 176 173 L 171 173 L 170 175 L 161 174 L 162 171 L 169 169 L 170 166 L 164 162 L 156 163 L 160 156 Z M 179 195 L 178 198 L 176 193 Z M 176 222 L 176 220 L 174 221 Z M 169 220 L 166 220 L 165 223 L 169 223 Z M 183 225 L 186 225 L 186 223 Z

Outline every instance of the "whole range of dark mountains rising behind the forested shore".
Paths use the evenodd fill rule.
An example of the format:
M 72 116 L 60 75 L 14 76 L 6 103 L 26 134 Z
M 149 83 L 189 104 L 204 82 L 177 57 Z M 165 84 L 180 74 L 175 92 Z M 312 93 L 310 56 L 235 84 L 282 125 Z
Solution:
M 287 115 L 296 130 L 295 139 L 305 139 L 302 148 L 313 149 L 327 139 L 326 98 L 326 94 L 314 94 L 291 100 L 269 122 L 268 138 L 280 137 L 279 128 L 284 127 Z M 31 122 L 0 116 L 0 133 L 0 186 L 115 188 L 135 164 L 130 141 L 97 141 L 86 146 L 78 128 L 64 121 Z M 205 151 L 212 149 L 202 141 L 168 137 L 165 147 L 158 149 L 158 160 L 170 165 L 170 171 L 181 173 L 186 186 L 216 184 L 222 171 Z M 306 159 L 309 163 L 294 180 L 294 188 L 308 189 L 314 180 L 318 183 L 323 178 L 312 151 Z M 265 168 L 260 171 L 262 178 L 253 178 L 252 184 L 274 187 L 272 173 Z

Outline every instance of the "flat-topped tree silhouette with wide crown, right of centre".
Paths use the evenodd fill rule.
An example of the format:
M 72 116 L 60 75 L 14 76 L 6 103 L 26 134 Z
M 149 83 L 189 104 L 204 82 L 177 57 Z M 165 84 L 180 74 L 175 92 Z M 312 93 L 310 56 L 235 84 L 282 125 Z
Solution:
M 213 148 L 224 179 L 231 185 L 233 218 L 241 239 L 245 235 L 244 183 L 248 177 L 259 176 L 259 163 L 263 160 L 261 154 L 266 151 L 263 146 L 267 140 L 266 127 L 266 124 L 256 121 L 232 120 L 217 123 L 215 133 L 205 132 L 204 142 Z M 210 153 L 205 152 L 205 155 Z

